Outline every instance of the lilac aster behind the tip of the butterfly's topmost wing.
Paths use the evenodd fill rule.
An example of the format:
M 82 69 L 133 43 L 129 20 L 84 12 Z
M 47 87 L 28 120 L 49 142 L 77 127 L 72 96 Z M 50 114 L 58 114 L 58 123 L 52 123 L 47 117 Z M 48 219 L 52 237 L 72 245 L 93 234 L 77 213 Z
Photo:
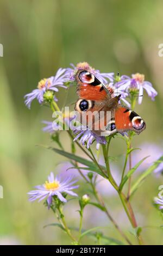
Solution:
M 114 73 L 100 73 L 99 70 L 93 69 L 87 62 L 80 62 L 77 64 L 77 66 L 74 66 L 74 64 L 70 64 L 72 68 L 66 69 L 66 75 L 69 78 L 70 81 L 75 81 L 75 75 L 76 72 L 79 69 L 85 69 L 89 71 L 91 74 L 95 75 L 99 81 L 102 83 L 108 83 L 108 81 L 113 82 L 114 81 Z

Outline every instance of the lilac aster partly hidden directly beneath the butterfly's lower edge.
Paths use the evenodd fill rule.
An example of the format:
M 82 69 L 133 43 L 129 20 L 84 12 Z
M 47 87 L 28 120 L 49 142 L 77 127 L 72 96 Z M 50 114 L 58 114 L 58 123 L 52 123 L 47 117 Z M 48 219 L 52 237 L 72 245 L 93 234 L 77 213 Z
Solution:
M 106 144 L 106 139 L 104 136 L 98 136 L 95 132 L 90 130 L 82 130 L 79 131 L 78 129 L 74 129 L 73 132 L 77 134 L 77 136 L 74 138 L 74 141 L 77 141 L 79 139 L 79 143 L 84 145 L 86 143 L 87 149 L 90 148 L 90 145 L 96 141 L 96 149 L 99 149 L 100 144 Z

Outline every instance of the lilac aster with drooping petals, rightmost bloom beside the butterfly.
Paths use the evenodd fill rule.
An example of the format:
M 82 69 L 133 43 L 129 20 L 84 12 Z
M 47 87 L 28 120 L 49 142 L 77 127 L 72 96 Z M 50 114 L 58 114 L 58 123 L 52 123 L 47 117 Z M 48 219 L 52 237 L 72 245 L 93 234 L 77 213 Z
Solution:
M 158 94 L 152 87 L 152 83 L 145 81 L 145 75 L 139 73 L 133 74 L 131 77 L 126 75 L 121 76 L 121 80 L 115 83 L 115 87 L 127 93 L 131 93 L 132 91 L 138 92 L 139 96 L 143 95 L 143 90 L 145 89 L 152 100 Z M 141 104 L 141 102 L 142 97 L 139 97 L 138 103 Z

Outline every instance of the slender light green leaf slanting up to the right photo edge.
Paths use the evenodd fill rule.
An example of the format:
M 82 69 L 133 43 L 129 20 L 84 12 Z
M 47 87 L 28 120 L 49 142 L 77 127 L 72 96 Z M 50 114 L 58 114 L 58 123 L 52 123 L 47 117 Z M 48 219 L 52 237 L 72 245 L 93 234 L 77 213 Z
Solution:
M 152 164 L 152 166 L 150 166 L 145 172 L 143 172 L 139 178 L 135 181 L 135 183 L 133 184 L 133 186 L 131 186 L 131 190 L 130 190 L 130 194 L 134 194 L 134 192 L 137 190 L 138 187 L 140 187 L 143 183 L 143 181 L 145 180 L 145 178 L 147 178 L 147 176 L 149 174 L 151 174 L 158 166 L 160 163 L 163 162 L 163 156 L 161 156 L 158 161 L 154 162 Z

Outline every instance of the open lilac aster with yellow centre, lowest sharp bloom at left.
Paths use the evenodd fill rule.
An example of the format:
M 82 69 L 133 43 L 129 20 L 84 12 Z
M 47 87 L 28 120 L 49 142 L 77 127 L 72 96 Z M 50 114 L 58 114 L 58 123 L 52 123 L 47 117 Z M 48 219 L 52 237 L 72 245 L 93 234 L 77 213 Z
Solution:
M 47 198 L 48 209 L 52 204 L 52 197 L 57 196 L 61 202 L 66 203 L 67 200 L 65 197 L 62 196 L 62 193 L 70 194 L 71 196 L 77 197 L 78 195 L 74 193 L 72 190 L 74 188 L 78 188 L 79 186 L 72 186 L 76 180 L 73 180 L 73 176 L 67 176 L 66 179 L 62 180 L 61 176 L 56 176 L 54 178 L 54 174 L 48 176 L 48 181 L 45 182 L 43 185 L 35 186 L 36 190 L 32 190 L 28 192 L 29 194 L 29 201 L 33 202 L 36 199 L 39 199 L 39 202 L 45 198 Z M 62 180 L 62 181 L 61 181 Z

